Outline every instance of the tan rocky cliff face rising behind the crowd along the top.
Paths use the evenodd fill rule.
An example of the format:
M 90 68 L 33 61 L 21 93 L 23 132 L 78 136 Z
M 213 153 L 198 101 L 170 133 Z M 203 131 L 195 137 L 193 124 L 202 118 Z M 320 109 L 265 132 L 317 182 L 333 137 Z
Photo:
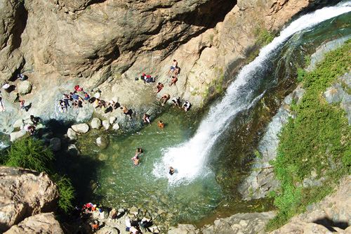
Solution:
M 58 113 L 62 92 L 72 91 L 75 84 L 88 91 L 99 86 L 102 99 L 118 100 L 136 115 L 161 110 L 153 105 L 153 87 L 134 77 L 146 72 L 168 84 L 173 58 L 181 68 L 178 83 L 165 85 L 159 95 L 169 93 L 190 100 L 194 107 L 204 105 L 215 87 L 220 91 L 232 78 L 227 71 L 244 62 L 255 45 L 256 29 L 277 30 L 315 2 L 2 1 L 0 80 L 26 74 L 32 93 L 22 98 L 32 107 L 18 112 L 13 104 L 16 91 L 3 92 L 7 112 L 1 115 L 1 131 L 13 131 L 15 120 L 31 114 L 44 120 L 90 118 L 90 106 L 67 116 Z

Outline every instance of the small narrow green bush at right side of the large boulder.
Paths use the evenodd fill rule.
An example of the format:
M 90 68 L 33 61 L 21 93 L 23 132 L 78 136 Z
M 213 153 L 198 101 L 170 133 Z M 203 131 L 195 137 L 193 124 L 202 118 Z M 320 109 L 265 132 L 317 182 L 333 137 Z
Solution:
M 73 208 L 74 188 L 72 182 L 66 176 L 60 176 L 58 174 L 51 176 L 51 178 L 55 181 L 56 186 L 58 186 L 58 192 L 60 193 L 58 208 L 67 214 Z

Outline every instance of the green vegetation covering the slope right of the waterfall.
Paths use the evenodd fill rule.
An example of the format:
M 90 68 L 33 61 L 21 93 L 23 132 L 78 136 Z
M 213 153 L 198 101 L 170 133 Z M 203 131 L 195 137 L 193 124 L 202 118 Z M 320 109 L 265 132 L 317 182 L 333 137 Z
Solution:
M 339 105 L 329 105 L 322 93 L 340 75 L 350 71 L 351 41 L 326 54 L 312 72 L 298 70 L 305 94 L 294 105 L 296 119 L 289 119 L 279 136 L 274 173 L 282 185 L 274 195 L 279 214 L 267 225 L 274 230 L 308 204 L 322 200 L 335 188 L 339 178 L 350 174 L 350 126 Z M 323 186 L 305 188 L 305 178 L 324 178 Z

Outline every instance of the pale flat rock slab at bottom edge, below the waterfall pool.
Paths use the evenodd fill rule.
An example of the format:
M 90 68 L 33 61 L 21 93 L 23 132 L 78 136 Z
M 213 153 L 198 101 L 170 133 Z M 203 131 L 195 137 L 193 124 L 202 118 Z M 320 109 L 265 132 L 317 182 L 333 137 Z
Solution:
M 203 234 L 265 233 L 265 224 L 275 216 L 274 212 L 234 214 L 217 219 L 213 225 L 201 228 Z

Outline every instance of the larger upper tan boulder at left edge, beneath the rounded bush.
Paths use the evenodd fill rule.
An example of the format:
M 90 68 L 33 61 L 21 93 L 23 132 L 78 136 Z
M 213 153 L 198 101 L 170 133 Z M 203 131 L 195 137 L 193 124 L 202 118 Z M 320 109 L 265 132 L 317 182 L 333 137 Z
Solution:
M 44 172 L 0 167 L 0 231 L 42 212 L 53 212 L 58 188 Z

